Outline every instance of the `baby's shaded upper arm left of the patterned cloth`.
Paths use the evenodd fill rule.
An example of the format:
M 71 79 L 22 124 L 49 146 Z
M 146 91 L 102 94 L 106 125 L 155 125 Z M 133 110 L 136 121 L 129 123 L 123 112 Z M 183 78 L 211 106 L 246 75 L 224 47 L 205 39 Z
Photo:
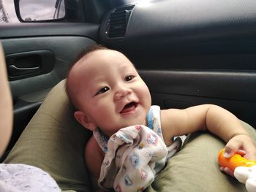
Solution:
M 86 144 L 85 159 L 86 166 L 89 169 L 89 176 L 91 179 L 93 191 L 102 191 L 101 189 L 99 189 L 98 180 L 100 168 L 102 166 L 102 161 L 104 159 L 104 154 L 93 136 L 89 139 L 89 141 Z

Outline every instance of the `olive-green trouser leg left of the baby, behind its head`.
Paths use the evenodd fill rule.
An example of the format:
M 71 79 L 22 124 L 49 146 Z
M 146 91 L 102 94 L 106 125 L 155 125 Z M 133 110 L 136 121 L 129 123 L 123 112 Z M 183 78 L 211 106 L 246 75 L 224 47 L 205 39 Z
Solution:
M 48 93 L 4 163 L 37 166 L 63 190 L 91 191 L 83 157 L 90 136 L 73 118 L 61 81 Z

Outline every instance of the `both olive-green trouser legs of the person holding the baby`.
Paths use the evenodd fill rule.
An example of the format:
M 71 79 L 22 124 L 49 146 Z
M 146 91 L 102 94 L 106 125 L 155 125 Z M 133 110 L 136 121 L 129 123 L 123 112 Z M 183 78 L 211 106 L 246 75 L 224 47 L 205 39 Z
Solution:
M 244 126 L 256 138 L 255 130 Z M 89 137 L 73 118 L 63 80 L 50 91 L 4 163 L 37 166 L 63 191 L 91 191 L 83 157 Z M 245 191 L 244 184 L 219 171 L 217 153 L 222 147 L 211 134 L 191 134 L 147 191 Z

